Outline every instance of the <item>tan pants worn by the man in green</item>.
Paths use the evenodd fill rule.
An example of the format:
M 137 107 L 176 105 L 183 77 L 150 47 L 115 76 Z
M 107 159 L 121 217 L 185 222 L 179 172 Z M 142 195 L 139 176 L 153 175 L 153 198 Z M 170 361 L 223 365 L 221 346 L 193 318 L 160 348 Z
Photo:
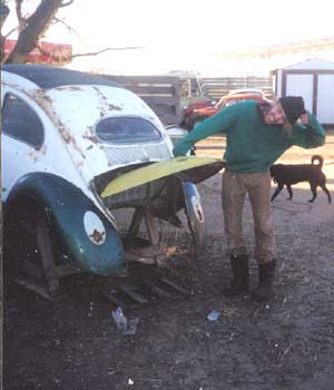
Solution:
M 248 194 L 255 233 L 254 257 L 259 264 L 275 257 L 275 238 L 271 217 L 269 173 L 223 174 L 222 203 L 229 254 L 246 254 L 243 238 L 243 207 Z

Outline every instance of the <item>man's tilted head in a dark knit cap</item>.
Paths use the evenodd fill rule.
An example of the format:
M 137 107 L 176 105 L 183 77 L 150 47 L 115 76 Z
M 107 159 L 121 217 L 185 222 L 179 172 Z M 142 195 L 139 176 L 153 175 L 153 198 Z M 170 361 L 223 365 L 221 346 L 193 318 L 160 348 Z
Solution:
M 301 96 L 284 96 L 264 114 L 264 121 L 267 125 L 294 125 L 304 113 L 305 106 Z

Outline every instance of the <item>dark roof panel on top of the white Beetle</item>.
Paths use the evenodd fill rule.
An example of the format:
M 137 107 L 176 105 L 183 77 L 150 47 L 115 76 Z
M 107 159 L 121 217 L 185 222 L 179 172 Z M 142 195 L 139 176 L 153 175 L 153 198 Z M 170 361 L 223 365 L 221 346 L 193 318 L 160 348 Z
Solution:
M 95 75 L 73 69 L 50 67 L 47 65 L 4 64 L 1 70 L 24 77 L 42 89 L 68 85 L 104 85 L 121 87 L 110 76 Z

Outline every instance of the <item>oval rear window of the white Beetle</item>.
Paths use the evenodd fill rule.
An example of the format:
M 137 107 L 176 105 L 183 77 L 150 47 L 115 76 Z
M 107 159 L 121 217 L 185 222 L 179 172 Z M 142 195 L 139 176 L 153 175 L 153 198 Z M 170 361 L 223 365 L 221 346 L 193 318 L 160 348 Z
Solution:
M 111 144 L 149 143 L 161 139 L 160 131 L 148 120 L 138 117 L 105 118 L 96 125 L 97 137 Z

